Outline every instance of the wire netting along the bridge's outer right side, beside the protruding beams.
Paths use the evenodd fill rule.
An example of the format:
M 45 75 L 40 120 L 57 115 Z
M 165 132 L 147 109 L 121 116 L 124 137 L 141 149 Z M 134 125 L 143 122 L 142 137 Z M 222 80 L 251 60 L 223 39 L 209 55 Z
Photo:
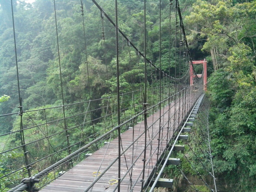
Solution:
M 193 177 L 197 176 L 201 184 L 205 185 L 210 191 L 217 191 L 217 178 L 214 175 L 214 163 L 210 145 L 209 111 L 210 101 L 207 96 L 204 96 L 198 108 L 196 119 L 193 121 L 189 139 L 182 142 L 186 146 L 185 150 L 173 154 L 181 159 L 181 165 L 174 166 L 173 172 L 181 174 L 181 178 L 186 180 L 189 187 L 194 191 L 200 191 L 198 188 L 200 185 L 198 185 L 198 182 L 197 185 L 191 182 L 191 175 Z M 188 170 L 183 168 L 186 167 L 183 166 L 185 164 L 190 166 L 187 174 L 185 173 Z M 177 181 L 175 185 L 179 185 Z

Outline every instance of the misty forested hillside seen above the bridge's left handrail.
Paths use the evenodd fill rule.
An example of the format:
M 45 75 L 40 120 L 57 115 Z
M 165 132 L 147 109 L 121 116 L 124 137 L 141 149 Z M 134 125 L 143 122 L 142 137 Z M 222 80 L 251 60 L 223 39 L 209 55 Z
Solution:
M 84 2 L 85 34 L 88 54 L 89 82 L 87 79 L 86 54 L 84 49 L 83 24 L 80 14 L 80 1 L 56 1 L 57 25 L 59 33 L 60 63 L 63 74 L 63 92 L 65 104 L 100 98 L 104 93 L 115 91 L 115 31 L 104 18 L 105 42 L 102 39 L 102 21 L 100 11 L 91 1 Z M 114 20 L 114 7 L 111 1 L 98 2 L 106 13 Z M 15 66 L 14 42 L 12 32 L 12 15 L 10 1 L 0 1 L 0 95 L 6 94 L 11 99 L 1 106 L 1 114 L 17 112 L 18 92 Z M 163 56 L 162 68 L 168 73 L 168 3 L 163 2 Z M 158 2 L 148 1 L 147 9 L 147 46 L 148 58 L 153 63 L 159 57 L 159 16 Z M 120 29 L 140 50 L 143 50 L 143 5 L 141 1 L 122 1 L 119 8 Z M 173 8 L 174 12 L 174 8 Z M 23 110 L 47 104 L 56 105 L 61 100 L 61 89 L 58 69 L 58 52 L 53 2 L 35 1 L 33 6 L 24 1 L 14 2 L 14 17 L 17 42 L 17 58 Z M 174 17 L 174 15 L 173 15 Z M 172 26 L 174 24 L 172 19 Z M 172 28 L 172 42 L 175 27 Z M 105 48 L 106 47 L 106 54 Z M 143 60 L 131 49 L 131 57 L 127 41 L 120 38 L 121 74 L 123 84 L 139 87 L 143 68 L 134 63 Z M 172 50 L 172 69 L 174 52 Z M 130 61 L 131 60 L 131 61 Z M 130 63 L 129 63 L 130 61 Z M 157 63 L 157 62 L 156 62 Z M 108 65 L 108 76 L 105 64 Z M 156 64 L 157 65 L 157 64 Z M 129 71 L 129 73 L 128 73 Z M 171 70 L 174 75 L 174 70 Z M 121 77 L 121 78 L 122 78 Z M 149 78 L 150 79 L 150 78 Z M 109 87 L 107 86 L 107 81 Z M 90 85 L 90 87 L 89 87 Z M 126 88 L 129 90 L 129 88 Z M 79 90 L 79 91 L 78 91 Z M 57 102 L 57 103 L 56 103 Z M 0 132 L 9 131 L 11 121 L 0 119 Z

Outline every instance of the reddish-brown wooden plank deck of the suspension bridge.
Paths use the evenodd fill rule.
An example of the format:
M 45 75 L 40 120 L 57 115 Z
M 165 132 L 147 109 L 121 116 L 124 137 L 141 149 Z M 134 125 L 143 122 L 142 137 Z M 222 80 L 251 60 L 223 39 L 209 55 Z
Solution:
M 170 103 L 170 114 L 174 114 L 175 108 L 174 108 L 174 102 Z M 180 101 L 180 106 L 182 105 L 182 99 Z M 161 131 L 161 140 L 160 142 L 161 147 L 159 149 L 159 153 L 161 153 L 166 148 L 166 134 L 167 134 L 167 124 L 168 122 L 168 109 L 169 106 L 165 106 L 161 112 L 162 115 L 165 113 L 165 115 L 161 118 L 161 122 L 163 128 Z M 146 171 L 145 171 L 145 179 L 147 180 L 150 176 L 151 170 L 154 168 L 154 166 L 157 163 L 157 147 L 158 147 L 158 131 L 159 131 L 159 110 L 154 113 L 153 115 L 149 116 L 147 118 L 147 125 L 150 127 L 147 132 L 147 143 L 152 140 L 151 145 L 148 145 L 146 149 Z M 176 113 L 178 113 L 178 106 L 176 106 Z M 180 109 L 180 113 L 182 113 Z M 157 120 L 157 121 L 156 121 Z M 181 121 L 181 119 L 180 119 Z M 169 125 L 172 129 L 169 129 L 169 138 L 172 136 L 173 133 L 173 127 L 174 127 L 174 121 L 172 118 L 172 121 Z M 175 127 L 177 127 L 177 122 L 175 123 Z M 144 131 L 144 121 L 136 124 L 134 126 L 134 139 L 138 137 L 141 133 Z M 122 133 L 121 140 L 122 140 L 122 146 L 125 150 L 131 143 L 132 143 L 132 135 L 133 135 L 133 129 L 129 129 L 126 132 Z M 152 138 L 153 135 L 153 138 Z M 155 136 L 155 137 L 154 137 Z M 130 147 L 125 152 L 125 158 L 124 155 L 121 156 L 121 178 L 124 176 L 125 172 L 127 171 L 126 164 L 128 168 L 132 163 L 135 163 L 132 169 L 132 172 L 130 171 L 131 178 L 132 178 L 132 185 L 134 185 L 134 182 L 137 180 L 138 182 L 134 185 L 133 191 L 141 191 L 141 182 L 142 174 L 141 171 L 143 169 L 143 156 L 144 156 L 144 140 L 145 135 L 143 134 L 137 142 L 134 143 L 134 150 L 132 147 Z M 152 148 L 152 150 L 151 150 Z M 121 149 L 122 152 L 122 149 Z M 105 157 L 104 157 L 105 154 Z M 138 158 L 136 162 L 135 159 Z M 152 157 L 150 157 L 152 156 Z M 103 159 L 104 157 L 104 159 Z M 73 192 L 82 192 L 84 191 L 95 179 L 95 177 L 92 175 L 93 172 L 97 172 L 101 162 L 101 168 L 99 172 L 102 172 L 106 167 L 109 166 L 109 164 L 118 157 L 118 138 L 115 138 L 112 140 L 109 144 L 105 144 L 103 147 L 101 147 L 98 151 L 94 152 L 92 155 L 84 159 L 82 162 L 78 163 L 74 167 L 72 167 L 68 172 L 57 178 L 54 182 L 50 183 L 49 185 L 45 186 L 43 189 L 41 189 L 41 192 L 67 192 L 67 191 L 73 191 Z M 108 182 L 111 179 L 118 179 L 118 161 L 116 161 L 111 168 L 98 180 L 97 183 L 94 184 L 92 190 L 89 191 L 93 192 L 110 192 L 113 191 L 113 189 L 116 187 L 117 184 L 110 185 Z M 120 191 L 129 191 L 131 187 L 130 182 L 130 175 L 127 174 L 123 181 L 120 184 Z M 117 190 L 116 190 L 117 191 Z

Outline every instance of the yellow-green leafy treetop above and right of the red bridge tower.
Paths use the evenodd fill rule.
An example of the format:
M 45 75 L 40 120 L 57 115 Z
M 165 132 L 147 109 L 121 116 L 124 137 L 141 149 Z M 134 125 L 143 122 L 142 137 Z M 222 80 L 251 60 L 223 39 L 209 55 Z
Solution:
M 194 12 L 185 18 L 185 22 L 191 26 L 188 40 L 195 44 L 206 40 L 201 50 L 210 53 L 214 70 L 224 65 L 230 48 L 242 48 L 243 43 L 253 49 L 250 55 L 255 60 L 256 37 L 252 32 L 255 31 L 255 22 L 252 22 L 255 7 L 255 1 L 234 3 L 197 0 L 193 4 Z

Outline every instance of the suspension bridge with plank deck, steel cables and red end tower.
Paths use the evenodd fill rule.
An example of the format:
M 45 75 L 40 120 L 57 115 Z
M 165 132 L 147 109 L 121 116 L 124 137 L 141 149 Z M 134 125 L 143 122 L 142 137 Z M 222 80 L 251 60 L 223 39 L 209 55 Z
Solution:
M 172 8 L 176 10 L 176 26 L 174 26 L 176 34 L 175 77 L 171 77 L 170 72 L 167 74 L 161 69 L 161 0 L 159 1 L 159 67 L 146 57 L 146 1 L 144 1 L 144 51 L 140 51 L 119 29 L 117 1 L 115 1 L 115 22 L 96 1 L 92 0 L 92 2 L 99 9 L 102 21 L 106 18 L 107 22 L 110 22 L 115 29 L 117 94 L 65 104 L 62 91 L 62 105 L 24 111 L 19 88 L 19 66 L 16 53 L 19 111 L 2 114 L 0 118 L 15 117 L 14 128 L 19 124 L 19 129 L 12 129 L 0 137 L 8 135 L 10 138 L 19 135 L 17 137 L 21 144 L 9 148 L 4 146 L 1 156 L 15 150 L 22 150 L 24 166 L 3 173 L 4 176 L 1 178 L 10 179 L 20 170 L 25 170 L 28 177 L 19 178 L 20 183 L 15 182 L 17 185 L 8 192 L 24 190 L 32 192 L 39 189 L 44 192 L 153 191 L 155 187 L 172 188 L 173 178 L 163 178 L 164 167 L 180 164 L 180 159 L 171 158 L 171 156 L 174 151 L 184 150 L 185 146 L 180 145 L 179 141 L 188 140 L 188 133 L 193 130 L 193 122 L 196 121 L 198 111 L 205 112 L 209 107 L 209 102 L 204 97 L 204 90 L 207 89 L 207 61 L 193 61 L 190 57 L 178 0 L 174 5 L 172 1 L 169 2 L 170 10 Z M 84 21 L 82 1 L 81 9 Z M 54 10 L 62 90 L 63 74 L 61 74 L 55 1 Z M 169 17 L 171 18 L 171 15 Z M 169 29 L 171 27 L 169 23 Z M 15 42 L 14 13 L 13 29 Z M 105 39 L 104 25 L 102 30 L 102 36 Z M 83 33 L 85 33 L 84 28 Z M 120 35 L 127 41 L 130 57 L 130 49 L 134 49 L 136 54 L 143 59 L 144 83 L 141 84 L 144 88 L 130 92 L 123 92 L 121 89 L 118 41 Z M 84 41 L 86 50 L 85 35 Z M 169 63 L 170 46 L 169 42 Z M 203 65 L 202 74 L 196 74 L 194 65 L 197 64 Z M 176 66 L 179 66 L 177 72 Z M 182 68 L 183 72 L 181 73 Z M 153 82 L 157 82 L 158 86 L 153 87 L 151 85 Z M 100 116 L 93 115 L 99 111 Z M 51 113 L 57 113 L 59 118 L 52 119 Z M 61 127 L 61 129 L 56 131 L 56 127 Z M 90 127 L 90 130 L 85 130 L 85 127 Z M 80 140 L 74 141 L 72 135 L 74 130 L 79 130 Z M 40 132 L 41 137 L 33 137 L 31 132 Z M 209 131 L 207 135 L 204 131 L 204 135 L 209 139 Z M 66 142 L 66 146 L 56 147 L 54 138 Z M 205 142 L 204 139 L 199 138 L 199 140 Z M 33 155 L 32 150 L 35 145 L 46 147 L 44 156 L 37 157 L 35 151 Z M 210 142 L 207 145 L 210 154 Z M 66 155 L 63 156 L 63 154 Z M 55 163 L 47 165 L 46 162 L 51 162 L 52 159 L 55 160 Z M 211 154 L 209 162 L 212 165 Z M 35 173 L 33 169 L 38 164 L 42 167 L 47 166 L 33 174 Z M 194 169 L 196 170 L 196 168 Z M 180 172 L 189 182 L 182 170 Z M 197 170 L 196 172 L 198 173 Z M 53 174 L 50 176 L 51 173 Z M 215 183 L 213 167 L 209 173 Z M 199 175 L 199 177 L 201 176 Z M 204 181 L 203 178 L 201 179 Z M 214 190 L 207 182 L 204 181 L 204 183 L 211 191 L 217 191 L 216 185 Z M 189 185 L 198 191 L 191 182 Z

